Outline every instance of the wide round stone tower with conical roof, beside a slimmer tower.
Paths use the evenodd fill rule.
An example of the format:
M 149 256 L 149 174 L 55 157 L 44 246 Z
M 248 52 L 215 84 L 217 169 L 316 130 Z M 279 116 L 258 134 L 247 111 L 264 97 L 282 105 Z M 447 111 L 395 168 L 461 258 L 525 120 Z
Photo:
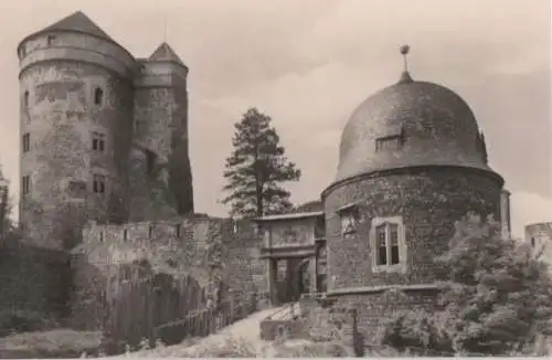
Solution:
M 25 237 L 67 248 L 84 219 L 124 219 L 137 63 L 82 12 L 18 46 Z

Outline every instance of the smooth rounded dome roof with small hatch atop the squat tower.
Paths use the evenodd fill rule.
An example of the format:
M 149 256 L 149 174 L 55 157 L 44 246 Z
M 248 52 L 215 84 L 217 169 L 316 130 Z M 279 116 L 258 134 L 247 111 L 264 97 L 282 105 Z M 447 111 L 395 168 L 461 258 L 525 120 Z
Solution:
M 474 113 L 453 91 L 413 81 L 367 98 L 341 135 L 336 181 L 412 166 L 464 166 L 490 170 Z

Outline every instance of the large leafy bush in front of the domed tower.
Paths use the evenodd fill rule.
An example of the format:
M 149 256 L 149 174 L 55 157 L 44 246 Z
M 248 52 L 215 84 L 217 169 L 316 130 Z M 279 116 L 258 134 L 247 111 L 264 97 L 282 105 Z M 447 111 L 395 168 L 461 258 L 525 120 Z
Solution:
M 528 246 L 501 239 L 492 219 L 468 214 L 437 263 L 439 310 L 397 314 L 383 342 L 460 354 L 532 351 L 552 317 L 552 283 Z

